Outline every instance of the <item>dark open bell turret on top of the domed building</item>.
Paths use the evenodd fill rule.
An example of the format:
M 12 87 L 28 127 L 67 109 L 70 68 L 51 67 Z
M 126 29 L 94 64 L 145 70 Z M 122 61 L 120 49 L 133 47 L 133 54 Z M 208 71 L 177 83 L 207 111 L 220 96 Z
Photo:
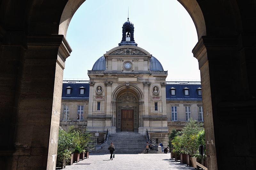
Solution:
M 132 46 L 137 46 L 138 44 L 135 43 L 134 41 L 134 26 L 132 22 L 128 20 L 123 24 L 123 37 L 121 43 L 118 44 L 118 46 L 123 46 L 123 45 L 132 45 Z

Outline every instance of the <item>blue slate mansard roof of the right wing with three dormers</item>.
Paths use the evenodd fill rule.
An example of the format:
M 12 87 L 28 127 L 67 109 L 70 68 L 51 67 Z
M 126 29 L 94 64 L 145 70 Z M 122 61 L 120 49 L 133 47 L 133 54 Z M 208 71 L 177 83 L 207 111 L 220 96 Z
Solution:
M 202 100 L 202 95 L 198 95 L 198 90 L 201 89 L 201 82 L 166 82 L 166 100 Z M 172 95 L 171 90 L 175 90 L 175 95 Z M 185 95 L 185 90 L 188 90 L 188 95 Z

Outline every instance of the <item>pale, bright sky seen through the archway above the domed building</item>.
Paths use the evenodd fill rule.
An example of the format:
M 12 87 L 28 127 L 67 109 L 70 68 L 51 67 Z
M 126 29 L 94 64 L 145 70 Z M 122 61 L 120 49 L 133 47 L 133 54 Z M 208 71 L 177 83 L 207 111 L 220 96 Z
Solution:
M 198 61 L 192 53 L 196 27 L 177 0 L 86 0 L 68 27 L 66 38 L 72 52 L 63 80 L 89 80 L 87 70 L 121 42 L 128 7 L 135 42 L 168 71 L 166 81 L 200 81 Z

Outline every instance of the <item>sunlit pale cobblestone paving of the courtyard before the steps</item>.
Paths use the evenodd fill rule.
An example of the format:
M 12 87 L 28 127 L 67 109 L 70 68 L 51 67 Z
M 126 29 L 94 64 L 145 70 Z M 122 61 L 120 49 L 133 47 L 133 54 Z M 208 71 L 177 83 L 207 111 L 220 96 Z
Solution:
M 181 164 L 180 161 L 171 160 L 170 153 L 152 153 L 152 154 L 115 154 L 113 160 L 109 160 L 110 154 L 90 154 L 89 158 L 80 160 L 68 169 L 195 169 L 193 167 Z

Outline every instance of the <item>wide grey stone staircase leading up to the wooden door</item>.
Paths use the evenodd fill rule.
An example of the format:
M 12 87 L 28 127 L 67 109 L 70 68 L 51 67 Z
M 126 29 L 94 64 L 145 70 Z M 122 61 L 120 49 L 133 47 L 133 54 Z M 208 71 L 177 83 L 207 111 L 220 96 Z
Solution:
M 113 142 L 115 146 L 115 153 L 146 153 L 146 135 L 141 135 L 138 132 L 117 132 L 108 136 L 108 142 L 102 146 L 98 151 L 91 151 L 90 153 L 109 153 L 108 146 Z M 158 153 L 157 148 L 148 153 Z

